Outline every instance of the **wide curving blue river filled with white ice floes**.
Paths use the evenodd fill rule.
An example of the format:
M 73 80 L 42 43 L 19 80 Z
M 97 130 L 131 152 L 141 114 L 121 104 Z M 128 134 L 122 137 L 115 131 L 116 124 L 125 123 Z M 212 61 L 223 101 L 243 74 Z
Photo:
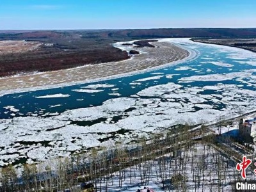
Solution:
M 255 110 L 255 53 L 170 41 L 190 50 L 190 58 L 115 79 L 0 97 L 0 166 L 131 143 L 175 124 Z

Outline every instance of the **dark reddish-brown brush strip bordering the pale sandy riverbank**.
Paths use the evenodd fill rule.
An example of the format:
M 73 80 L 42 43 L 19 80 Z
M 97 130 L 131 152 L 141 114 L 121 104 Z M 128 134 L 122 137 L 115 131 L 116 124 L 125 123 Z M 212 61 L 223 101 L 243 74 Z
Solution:
M 8 56 L 11 56 L 11 54 Z M 128 58 L 127 52 L 116 49 L 115 47 L 98 49 L 97 52 L 71 52 L 55 55 L 42 54 L 34 58 L 20 56 L 17 60 L 0 60 L 0 76 L 10 76 L 19 72 L 58 70 L 86 64 L 126 60 Z

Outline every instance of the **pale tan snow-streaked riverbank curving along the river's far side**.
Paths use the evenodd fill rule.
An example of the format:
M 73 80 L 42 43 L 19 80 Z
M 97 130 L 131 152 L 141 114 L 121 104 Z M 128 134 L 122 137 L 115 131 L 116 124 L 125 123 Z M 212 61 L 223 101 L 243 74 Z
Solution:
M 169 63 L 169 65 L 173 62 L 177 63 L 177 61 L 183 61 L 189 56 L 189 51 L 172 44 L 170 39 L 152 42 L 151 44 L 156 47 L 134 48 L 132 46 L 122 45 L 123 43 L 119 42 L 114 46 L 123 51 L 125 49 L 136 49 L 140 54 L 124 61 L 85 65 L 83 67 L 28 76 L 4 77 L 0 79 L 0 95 L 87 83 L 93 80 L 99 81 L 100 79 L 108 79 L 109 77 L 133 74 L 134 72 L 159 67 L 166 63 Z

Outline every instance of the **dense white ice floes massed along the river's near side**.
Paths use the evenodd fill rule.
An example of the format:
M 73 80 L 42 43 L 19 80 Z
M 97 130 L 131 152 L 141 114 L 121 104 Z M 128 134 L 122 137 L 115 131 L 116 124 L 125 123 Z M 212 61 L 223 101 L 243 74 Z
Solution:
M 204 90 L 214 90 L 216 93 L 198 94 Z M 215 122 L 220 116 L 230 118 L 240 113 L 239 111 L 253 110 L 256 104 L 256 92 L 242 90 L 236 84 L 219 83 L 203 88 L 196 86 L 183 88 L 179 84 L 167 83 L 145 88 L 138 92 L 138 95 L 136 98 L 109 99 L 100 106 L 67 110 L 60 115 L 56 114 L 48 118 L 27 116 L 0 120 L 0 131 L 2 131 L 0 147 L 6 147 L 6 151 L 18 152 L 18 157 L 15 156 L 15 158 L 31 151 L 29 153 L 31 159 L 43 161 L 43 155 L 37 152 L 42 152 L 46 158 L 52 158 L 67 156 L 68 152 L 84 150 L 88 147 L 104 146 L 105 142 L 110 140 L 100 143 L 99 139 L 107 138 L 109 132 L 120 129 L 132 132 L 124 135 L 116 134 L 111 141 L 122 140 L 123 143 L 129 143 L 134 137 L 140 138 L 143 134 L 147 136 L 150 132 L 163 131 L 181 122 L 200 124 L 202 121 Z M 146 98 L 142 99 L 140 96 Z M 214 105 L 207 104 L 207 100 Z M 221 103 L 225 103 L 226 107 L 221 110 L 214 109 L 215 105 L 218 106 Z M 194 107 L 202 109 L 195 111 Z M 125 112 L 131 108 L 133 108 L 132 111 Z M 113 122 L 114 116 L 120 116 L 120 120 Z M 100 118 L 106 118 L 106 120 L 99 120 Z M 95 123 L 91 126 L 79 126 L 72 124 L 73 121 L 95 121 Z M 30 148 L 24 148 L 26 146 L 24 144 L 15 148 L 15 142 L 22 143 L 22 141 L 39 143 L 29 145 Z M 50 141 L 52 144 L 42 147 L 40 143 L 45 141 Z M 65 151 L 67 153 L 64 153 Z M 2 151 L 3 155 L 5 153 Z M 1 158 L 0 161 L 2 161 Z

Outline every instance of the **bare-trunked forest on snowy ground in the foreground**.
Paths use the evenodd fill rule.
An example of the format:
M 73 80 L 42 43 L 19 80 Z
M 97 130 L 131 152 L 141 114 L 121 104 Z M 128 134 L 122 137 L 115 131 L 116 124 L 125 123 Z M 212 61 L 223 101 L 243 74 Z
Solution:
M 178 125 L 129 146 L 93 148 L 90 154 L 24 164 L 19 171 L 6 166 L 0 191 L 81 191 L 81 184 L 93 184 L 95 191 L 125 191 L 152 183 L 165 191 L 235 189 L 243 179 L 236 170 L 242 157 L 228 150 L 233 141 L 205 125 Z M 254 179 L 250 168 L 247 172 L 248 180 Z

